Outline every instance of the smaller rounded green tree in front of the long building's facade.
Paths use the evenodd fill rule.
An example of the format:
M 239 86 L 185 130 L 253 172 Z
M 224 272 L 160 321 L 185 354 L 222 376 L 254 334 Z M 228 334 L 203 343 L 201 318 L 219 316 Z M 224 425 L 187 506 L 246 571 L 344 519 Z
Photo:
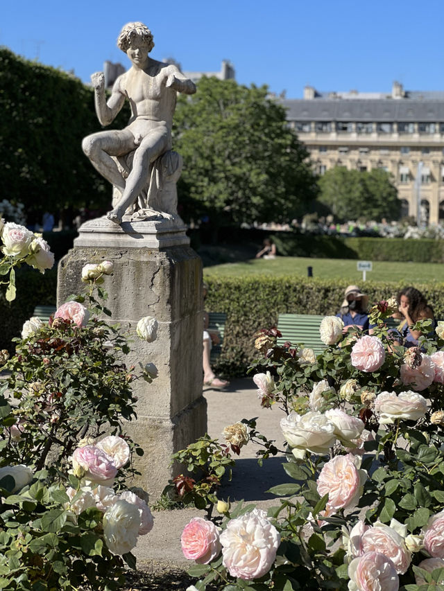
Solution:
M 370 172 L 336 166 L 319 181 L 319 201 L 338 220 L 397 220 L 400 216 L 398 191 L 391 175 L 381 168 Z

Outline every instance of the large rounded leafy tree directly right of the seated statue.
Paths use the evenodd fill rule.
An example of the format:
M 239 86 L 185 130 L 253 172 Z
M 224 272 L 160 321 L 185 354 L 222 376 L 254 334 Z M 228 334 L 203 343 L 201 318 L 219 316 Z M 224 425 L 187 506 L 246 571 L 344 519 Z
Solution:
M 202 78 L 196 94 L 178 98 L 173 133 L 185 218 L 208 215 L 215 227 L 288 221 L 316 197 L 308 152 L 266 86 Z

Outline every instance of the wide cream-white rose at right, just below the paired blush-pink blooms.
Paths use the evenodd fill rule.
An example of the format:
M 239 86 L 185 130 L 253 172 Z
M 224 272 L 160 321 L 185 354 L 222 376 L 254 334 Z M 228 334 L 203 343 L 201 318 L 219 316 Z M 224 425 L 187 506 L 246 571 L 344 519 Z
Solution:
M 427 412 L 427 400 L 411 390 L 398 396 L 395 392 L 381 392 L 375 399 L 375 411 L 382 425 L 395 423 L 397 418 L 418 421 Z

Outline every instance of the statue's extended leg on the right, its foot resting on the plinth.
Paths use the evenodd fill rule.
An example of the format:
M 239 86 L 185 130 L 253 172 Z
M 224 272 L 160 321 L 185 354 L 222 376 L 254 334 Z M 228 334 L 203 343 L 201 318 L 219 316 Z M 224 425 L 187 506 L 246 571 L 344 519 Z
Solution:
M 120 224 L 121 219 L 130 205 L 135 203 L 137 197 L 148 183 L 149 166 L 151 162 L 169 148 L 169 134 L 164 128 L 159 128 L 148 134 L 135 151 L 133 170 L 126 180 L 125 191 L 117 205 L 108 213 L 108 219 Z

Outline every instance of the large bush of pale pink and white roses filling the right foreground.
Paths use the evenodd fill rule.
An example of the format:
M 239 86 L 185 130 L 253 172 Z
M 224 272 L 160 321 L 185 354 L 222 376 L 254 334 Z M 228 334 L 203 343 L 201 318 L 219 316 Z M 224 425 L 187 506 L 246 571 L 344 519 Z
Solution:
M 409 348 L 386 328 L 393 306 L 393 301 L 373 306 L 371 336 L 357 328 L 342 335 L 336 321 L 325 319 L 324 342 L 330 344 L 311 360 L 303 358 L 302 348 L 278 345 L 275 329 L 262 330 L 266 345 L 261 341 L 258 351 L 264 356 L 251 371 L 267 376 L 267 383 L 273 380 L 266 406 L 284 412 L 286 443 L 278 450 L 255 433 L 248 446 L 260 443 L 257 453 L 265 466 L 267 457 L 286 455 L 282 467 L 289 482 L 271 488 L 282 499 L 266 515 L 280 544 L 273 561 L 255 570 L 257 528 L 244 524 L 230 533 L 233 522 L 252 509 L 224 504 L 223 513 L 212 518 L 222 530 L 222 561 L 219 556 L 191 567 L 190 574 L 200 579 L 194 585 L 198 591 L 210 583 L 230 591 L 441 588 L 442 327 L 434 340 L 427 321 L 418 322 L 413 330 L 427 336 Z M 265 536 L 261 543 L 266 554 Z

